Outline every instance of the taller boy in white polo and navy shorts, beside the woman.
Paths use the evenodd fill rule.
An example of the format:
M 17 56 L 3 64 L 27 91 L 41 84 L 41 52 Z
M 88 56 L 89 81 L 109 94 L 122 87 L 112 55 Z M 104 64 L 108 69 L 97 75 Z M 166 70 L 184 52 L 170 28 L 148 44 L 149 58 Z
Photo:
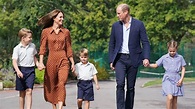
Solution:
M 31 109 L 32 107 L 32 89 L 35 80 L 35 63 L 38 67 L 38 61 L 35 55 L 37 50 L 32 41 L 32 31 L 22 28 L 18 36 L 20 43 L 14 47 L 12 54 L 12 64 L 16 72 L 16 90 L 19 91 L 19 107 Z M 26 97 L 26 100 L 25 100 Z

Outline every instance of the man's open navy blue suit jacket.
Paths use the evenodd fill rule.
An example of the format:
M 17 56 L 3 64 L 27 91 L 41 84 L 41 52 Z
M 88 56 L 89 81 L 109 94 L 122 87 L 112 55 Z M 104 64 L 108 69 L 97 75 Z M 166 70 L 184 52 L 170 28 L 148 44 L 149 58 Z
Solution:
M 117 21 L 112 25 L 109 42 L 109 62 L 115 65 L 116 56 L 123 43 L 123 23 Z M 150 43 L 142 21 L 132 18 L 129 33 L 130 60 L 134 67 L 138 67 L 143 59 L 150 57 Z

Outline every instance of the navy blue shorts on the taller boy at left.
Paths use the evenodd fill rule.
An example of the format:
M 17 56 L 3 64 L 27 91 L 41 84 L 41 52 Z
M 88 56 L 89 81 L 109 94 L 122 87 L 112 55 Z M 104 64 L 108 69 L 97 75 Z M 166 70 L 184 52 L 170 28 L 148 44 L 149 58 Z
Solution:
M 35 80 L 35 68 L 34 67 L 21 67 L 20 71 L 23 74 L 23 78 L 18 78 L 16 75 L 16 90 L 24 91 L 26 89 L 33 89 Z

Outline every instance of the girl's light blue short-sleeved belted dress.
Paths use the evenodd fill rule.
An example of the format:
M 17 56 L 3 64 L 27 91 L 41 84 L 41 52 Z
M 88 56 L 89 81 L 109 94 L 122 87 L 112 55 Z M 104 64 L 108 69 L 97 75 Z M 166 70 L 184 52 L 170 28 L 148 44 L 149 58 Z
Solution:
M 176 53 L 174 57 L 171 57 L 168 53 L 163 55 L 160 59 L 156 61 L 158 66 L 163 66 L 165 69 L 165 74 L 162 79 L 162 94 L 167 96 L 171 94 L 173 96 L 183 96 L 184 88 L 182 86 L 177 86 L 177 82 L 180 79 L 179 72 L 182 66 L 186 65 L 183 56 Z

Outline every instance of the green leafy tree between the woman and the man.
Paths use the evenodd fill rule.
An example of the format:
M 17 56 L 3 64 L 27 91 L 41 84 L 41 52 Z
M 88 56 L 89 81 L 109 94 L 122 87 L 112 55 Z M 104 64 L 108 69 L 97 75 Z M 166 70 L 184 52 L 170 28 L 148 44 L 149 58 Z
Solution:
M 90 51 L 107 52 L 111 22 L 119 0 L 73 0 L 82 9 L 72 13 L 69 29 L 75 50 L 86 47 Z

